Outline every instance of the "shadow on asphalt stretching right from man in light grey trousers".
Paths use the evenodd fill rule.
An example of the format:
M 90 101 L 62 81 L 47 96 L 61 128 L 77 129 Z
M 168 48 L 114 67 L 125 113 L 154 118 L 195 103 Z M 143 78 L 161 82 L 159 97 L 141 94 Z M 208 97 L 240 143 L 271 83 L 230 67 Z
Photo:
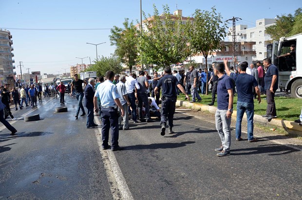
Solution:
M 246 151 L 246 152 L 240 152 Z M 240 148 L 240 149 L 232 149 L 232 155 L 252 155 L 252 154 L 260 154 L 260 153 L 269 153 L 269 156 L 276 156 L 282 154 L 293 153 L 296 151 L 300 151 L 298 149 L 290 148 L 284 145 L 259 145 L 258 147 L 250 147 L 250 148 Z M 238 153 L 234 153 L 238 152 Z M 279 153 L 278 153 L 279 152 Z

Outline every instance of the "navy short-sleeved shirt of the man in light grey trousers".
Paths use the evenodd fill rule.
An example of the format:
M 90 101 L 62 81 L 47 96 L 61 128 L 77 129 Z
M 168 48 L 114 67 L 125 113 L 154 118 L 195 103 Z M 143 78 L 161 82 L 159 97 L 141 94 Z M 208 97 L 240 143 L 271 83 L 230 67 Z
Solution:
M 224 74 L 219 78 L 217 85 L 217 109 L 228 109 L 228 92 L 227 90 L 233 89 L 233 81 L 231 77 Z

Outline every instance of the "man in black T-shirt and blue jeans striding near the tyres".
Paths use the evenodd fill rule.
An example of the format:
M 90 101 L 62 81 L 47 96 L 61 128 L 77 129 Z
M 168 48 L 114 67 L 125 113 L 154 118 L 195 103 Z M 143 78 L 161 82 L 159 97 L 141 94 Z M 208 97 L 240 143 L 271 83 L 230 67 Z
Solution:
M 77 104 L 77 110 L 76 110 L 76 118 L 78 117 L 78 114 L 80 112 L 80 109 L 82 109 L 82 114 L 81 116 L 86 115 L 86 112 L 84 110 L 83 104 L 82 104 L 82 100 L 84 97 L 84 92 L 83 92 L 83 86 L 82 84 L 87 84 L 86 81 L 83 81 L 82 79 L 79 79 L 77 74 L 74 75 L 75 80 L 72 82 L 71 84 L 71 94 L 70 96 L 72 96 L 73 91 L 76 91 L 76 100 L 78 101 Z

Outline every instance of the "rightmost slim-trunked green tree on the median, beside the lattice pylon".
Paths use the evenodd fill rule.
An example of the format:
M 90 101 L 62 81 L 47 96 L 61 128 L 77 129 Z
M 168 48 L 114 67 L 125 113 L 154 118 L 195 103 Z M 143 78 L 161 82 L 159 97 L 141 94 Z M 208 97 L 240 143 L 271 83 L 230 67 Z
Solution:
M 208 55 L 221 49 L 220 41 L 226 36 L 226 22 L 222 21 L 220 13 L 215 7 L 211 11 L 195 10 L 193 23 L 187 23 L 187 33 L 192 54 L 202 53 L 208 66 Z M 208 68 L 207 82 L 208 82 Z M 206 94 L 208 94 L 208 84 Z

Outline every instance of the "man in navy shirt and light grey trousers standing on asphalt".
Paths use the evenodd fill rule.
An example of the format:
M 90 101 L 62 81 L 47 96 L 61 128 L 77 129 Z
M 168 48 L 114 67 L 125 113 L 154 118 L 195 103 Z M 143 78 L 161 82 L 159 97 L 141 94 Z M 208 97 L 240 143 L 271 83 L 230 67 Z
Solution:
M 231 116 L 233 113 L 233 81 L 225 74 L 223 63 L 214 66 L 214 75 L 219 78 L 217 85 L 217 109 L 215 113 L 216 129 L 219 133 L 222 146 L 215 148 L 221 151 L 217 156 L 230 155 L 231 146 Z

